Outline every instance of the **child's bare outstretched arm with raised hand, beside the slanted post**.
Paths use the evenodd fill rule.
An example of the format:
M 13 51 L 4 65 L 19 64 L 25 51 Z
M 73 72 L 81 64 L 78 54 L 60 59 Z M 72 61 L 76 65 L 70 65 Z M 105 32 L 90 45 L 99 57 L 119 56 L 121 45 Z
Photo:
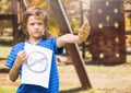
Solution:
M 82 27 L 80 28 L 80 32 L 78 35 L 64 34 L 64 35 L 58 37 L 57 47 L 60 48 L 60 47 L 64 46 L 64 44 L 67 44 L 67 43 L 85 42 L 90 35 L 90 28 L 91 28 L 91 26 L 90 26 L 88 22 L 85 21 L 83 23 Z

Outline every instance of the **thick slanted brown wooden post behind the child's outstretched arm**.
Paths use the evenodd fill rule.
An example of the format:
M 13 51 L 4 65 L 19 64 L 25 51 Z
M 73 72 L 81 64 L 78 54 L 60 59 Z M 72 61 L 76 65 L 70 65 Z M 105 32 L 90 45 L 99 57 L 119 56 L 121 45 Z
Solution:
M 62 34 L 66 33 L 72 33 L 71 27 L 69 25 L 68 19 L 66 16 L 64 10 L 62 8 L 60 0 L 49 0 L 49 4 L 52 9 L 53 15 L 57 19 L 57 22 L 59 24 L 60 31 Z M 72 33 L 73 34 L 73 33 Z M 69 55 L 71 56 L 75 70 L 79 74 L 81 84 L 83 88 L 92 88 L 86 69 L 85 69 L 85 62 L 83 58 L 80 56 L 79 47 L 76 44 L 67 44 L 66 47 L 68 48 Z

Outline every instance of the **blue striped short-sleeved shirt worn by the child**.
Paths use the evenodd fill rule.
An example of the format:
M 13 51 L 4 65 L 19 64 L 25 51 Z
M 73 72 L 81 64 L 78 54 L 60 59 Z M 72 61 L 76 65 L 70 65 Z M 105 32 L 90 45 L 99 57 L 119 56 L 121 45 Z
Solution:
M 37 43 L 37 46 L 46 47 L 52 50 L 52 59 L 51 59 L 51 69 L 50 69 L 50 79 L 49 79 L 49 88 L 45 89 L 43 86 L 33 85 L 33 84 L 21 84 L 17 89 L 16 93 L 59 93 L 59 77 L 57 70 L 56 55 L 60 55 L 63 53 L 63 47 L 57 48 L 57 38 L 48 38 L 46 40 L 41 39 Z M 29 43 L 29 42 L 27 42 Z M 7 60 L 5 66 L 12 68 L 17 53 L 20 50 L 24 50 L 24 43 L 19 43 L 13 46 L 10 56 Z M 22 73 L 22 67 L 20 67 L 20 74 Z

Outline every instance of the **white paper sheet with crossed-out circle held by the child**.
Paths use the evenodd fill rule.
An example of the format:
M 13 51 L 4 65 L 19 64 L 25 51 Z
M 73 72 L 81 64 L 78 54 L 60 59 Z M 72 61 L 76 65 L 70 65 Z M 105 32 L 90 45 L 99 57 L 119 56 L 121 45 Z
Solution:
M 52 50 L 25 43 L 27 60 L 22 66 L 22 83 L 48 89 Z

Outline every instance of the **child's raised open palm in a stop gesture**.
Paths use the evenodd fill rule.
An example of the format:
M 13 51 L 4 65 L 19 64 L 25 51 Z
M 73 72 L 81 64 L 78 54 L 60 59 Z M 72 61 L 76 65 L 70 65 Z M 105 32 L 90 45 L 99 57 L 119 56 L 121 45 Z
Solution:
M 82 25 L 82 27 L 80 28 L 80 32 L 79 32 L 80 42 L 85 42 L 86 40 L 86 38 L 90 35 L 90 30 L 91 30 L 91 26 L 88 24 L 88 21 L 85 20 L 85 22 L 83 23 L 83 25 Z

